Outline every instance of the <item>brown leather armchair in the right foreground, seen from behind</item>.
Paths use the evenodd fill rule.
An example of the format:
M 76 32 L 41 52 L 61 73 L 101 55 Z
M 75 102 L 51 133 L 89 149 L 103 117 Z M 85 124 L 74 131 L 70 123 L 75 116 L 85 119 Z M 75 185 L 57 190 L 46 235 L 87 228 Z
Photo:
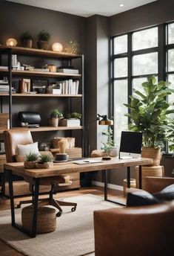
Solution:
M 173 178 L 147 177 L 145 190 L 158 192 Z M 174 200 L 155 205 L 94 211 L 96 256 L 174 255 Z

